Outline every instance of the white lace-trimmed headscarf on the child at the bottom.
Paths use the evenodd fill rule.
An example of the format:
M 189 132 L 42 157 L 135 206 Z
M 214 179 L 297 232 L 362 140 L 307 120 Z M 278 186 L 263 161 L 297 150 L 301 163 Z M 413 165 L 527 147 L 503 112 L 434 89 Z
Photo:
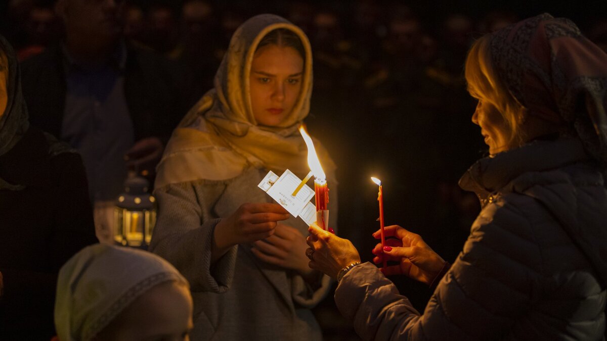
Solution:
M 59 271 L 55 328 L 61 341 L 87 341 L 154 286 L 188 281 L 147 251 L 96 244 L 75 254 Z

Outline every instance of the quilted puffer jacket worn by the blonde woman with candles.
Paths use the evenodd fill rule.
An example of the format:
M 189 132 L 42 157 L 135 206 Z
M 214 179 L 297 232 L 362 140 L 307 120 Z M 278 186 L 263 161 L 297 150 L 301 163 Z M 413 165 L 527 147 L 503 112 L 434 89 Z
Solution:
M 375 266 L 357 266 L 337 306 L 371 340 L 600 340 L 607 191 L 577 140 L 485 158 L 460 181 L 483 210 L 424 314 Z

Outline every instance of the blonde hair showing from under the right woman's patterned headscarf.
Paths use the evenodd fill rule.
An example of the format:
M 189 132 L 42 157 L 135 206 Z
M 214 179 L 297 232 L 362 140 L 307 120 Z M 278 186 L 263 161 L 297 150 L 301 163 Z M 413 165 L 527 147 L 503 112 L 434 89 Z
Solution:
M 495 106 L 510 128 L 508 144 L 521 146 L 525 141 L 524 133 L 520 129 L 525 110 L 503 84 L 493 66 L 489 52 L 489 35 L 482 36 L 472 44 L 466 58 L 465 70 L 470 95 Z

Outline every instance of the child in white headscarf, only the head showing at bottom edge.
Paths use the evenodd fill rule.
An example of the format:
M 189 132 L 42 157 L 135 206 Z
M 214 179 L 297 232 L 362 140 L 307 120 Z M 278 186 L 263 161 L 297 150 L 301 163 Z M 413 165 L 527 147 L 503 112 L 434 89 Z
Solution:
M 166 260 L 97 244 L 61 268 L 53 341 L 187 341 L 188 281 Z

